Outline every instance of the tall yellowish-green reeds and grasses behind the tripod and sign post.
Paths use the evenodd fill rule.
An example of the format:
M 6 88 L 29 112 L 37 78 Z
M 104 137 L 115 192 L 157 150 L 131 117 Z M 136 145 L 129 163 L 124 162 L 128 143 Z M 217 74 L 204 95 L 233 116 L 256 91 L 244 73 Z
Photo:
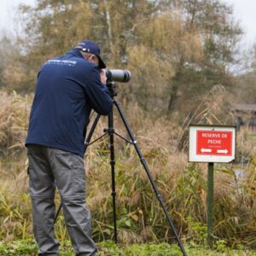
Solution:
M 0 237 L 4 241 L 31 240 L 31 203 L 27 191 L 25 121 L 31 97 L 3 93 L 1 100 L 7 103 L 1 113 L 1 183 L 0 183 Z M 163 195 L 173 223 L 185 244 L 207 245 L 207 166 L 189 164 L 183 150 L 177 150 L 181 129 L 164 118 L 153 118 L 133 106 L 127 113 L 154 180 Z M 143 117 L 138 119 L 137 115 Z M 209 115 L 208 119 L 214 119 Z M 106 120 L 101 119 L 95 137 L 102 134 Z M 125 135 L 125 128 L 115 115 L 116 129 Z M 4 125 L 6 124 L 6 125 Z M 185 128 L 183 128 L 185 129 Z M 148 136 L 144 137 L 145 131 Z M 159 131 L 161 134 L 159 135 Z M 254 247 L 255 244 L 255 147 L 246 141 L 246 131 L 237 137 L 239 158 L 247 162 L 245 176 L 236 178 L 232 165 L 216 165 L 214 198 L 214 241 L 215 247 Z M 116 139 L 116 191 L 118 232 L 121 244 L 154 241 L 175 242 L 172 230 L 148 177 L 139 164 L 135 149 Z M 91 146 L 85 156 L 87 172 L 87 204 L 94 219 L 94 239 L 113 239 L 111 174 L 108 165 L 108 137 Z M 56 197 L 59 205 L 59 195 Z M 60 214 L 56 236 L 66 241 L 67 230 Z M 128 254 L 129 255 L 129 254 Z

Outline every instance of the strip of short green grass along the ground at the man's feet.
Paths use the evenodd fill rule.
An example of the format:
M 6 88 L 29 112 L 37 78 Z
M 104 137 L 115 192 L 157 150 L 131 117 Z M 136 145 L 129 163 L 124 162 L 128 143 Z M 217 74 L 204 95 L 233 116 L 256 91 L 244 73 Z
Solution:
M 168 243 L 146 243 L 133 244 L 130 246 L 116 245 L 113 241 L 103 241 L 97 244 L 98 256 L 182 256 L 180 247 L 177 245 L 170 245 Z M 228 247 L 218 246 L 215 249 L 209 250 L 206 247 L 187 245 L 184 247 L 189 256 L 253 256 L 256 251 L 247 250 L 243 247 L 231 250 Z M 62 241 L 60 248 L 61 256 L 74 256 L 73 248 L 69 241 Z M 10 256 L 33 256 L 37 255 L 38 247 L 32 240 L 29 241 L 0 241 L 0 255 Z

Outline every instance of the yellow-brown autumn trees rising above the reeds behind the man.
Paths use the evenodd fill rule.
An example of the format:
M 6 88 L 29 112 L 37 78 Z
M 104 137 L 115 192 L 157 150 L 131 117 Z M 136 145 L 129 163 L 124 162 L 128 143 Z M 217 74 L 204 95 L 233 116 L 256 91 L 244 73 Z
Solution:
M 119 92 L 124 102 L 163 114 L 178 111 L 184 119 L 214 85 L 234 94 L 229 70 L 240 61 L 242 32 L 220 0 L 44 0 L 20 12 L 26 36 L 15 42 L 3 68 L 10 90 L 32 91 L 44 61 L 90 38 L 102 46 L 108 67 L 131 70 L 132 83 Z

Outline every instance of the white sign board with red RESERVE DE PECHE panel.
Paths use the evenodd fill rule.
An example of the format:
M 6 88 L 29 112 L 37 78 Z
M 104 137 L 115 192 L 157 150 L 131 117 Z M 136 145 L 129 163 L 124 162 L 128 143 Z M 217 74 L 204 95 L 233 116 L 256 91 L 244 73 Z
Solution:
M 235 157 L 236 126 L 189 126 L 190 162 L 229 163 Z

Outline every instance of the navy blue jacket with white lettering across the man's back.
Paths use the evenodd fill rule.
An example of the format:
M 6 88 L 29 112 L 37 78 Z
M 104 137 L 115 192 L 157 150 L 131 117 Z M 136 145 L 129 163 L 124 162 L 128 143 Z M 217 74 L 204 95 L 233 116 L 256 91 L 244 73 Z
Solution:
M 84 156 L 84 137 L 91 109 L 106 115 L 112 99 L 98 67 L 78 49 L 44 63 L 30 114 L 26 145 L 39 144 Z

